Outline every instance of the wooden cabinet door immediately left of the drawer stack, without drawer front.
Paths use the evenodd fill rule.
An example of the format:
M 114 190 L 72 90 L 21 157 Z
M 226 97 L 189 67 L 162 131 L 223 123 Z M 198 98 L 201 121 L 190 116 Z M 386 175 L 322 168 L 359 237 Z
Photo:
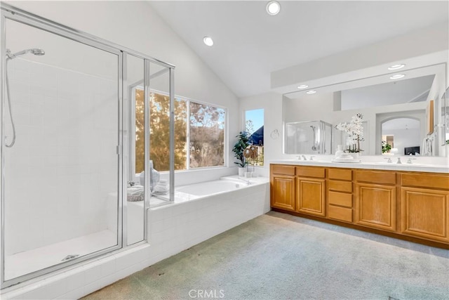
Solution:
M 326 216 L 326 180 L 296 178 L 297 211 L 315 216 Z

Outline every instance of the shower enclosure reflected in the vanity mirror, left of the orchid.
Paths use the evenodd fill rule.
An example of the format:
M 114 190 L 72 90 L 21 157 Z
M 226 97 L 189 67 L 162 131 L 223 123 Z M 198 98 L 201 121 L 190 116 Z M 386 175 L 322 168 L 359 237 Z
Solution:
M 329 123 L 288 122 L 284 133 L 284 152 L 287 154 L 330 155 L 333 153 L 333 129 Z

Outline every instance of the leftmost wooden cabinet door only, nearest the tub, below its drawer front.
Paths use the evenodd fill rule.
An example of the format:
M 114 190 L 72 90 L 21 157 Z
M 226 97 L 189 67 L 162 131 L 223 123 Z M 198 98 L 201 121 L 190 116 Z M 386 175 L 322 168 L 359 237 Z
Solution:
M 272 177 L 272 207 L 295 210 L 295 177 Z

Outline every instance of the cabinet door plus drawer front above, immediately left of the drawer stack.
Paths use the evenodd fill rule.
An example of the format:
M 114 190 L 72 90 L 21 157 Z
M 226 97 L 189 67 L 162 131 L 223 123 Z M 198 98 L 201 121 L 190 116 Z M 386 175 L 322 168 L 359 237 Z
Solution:
M 297 167 L 296 175 L 296 210 L 326 216 L 326 169 Z

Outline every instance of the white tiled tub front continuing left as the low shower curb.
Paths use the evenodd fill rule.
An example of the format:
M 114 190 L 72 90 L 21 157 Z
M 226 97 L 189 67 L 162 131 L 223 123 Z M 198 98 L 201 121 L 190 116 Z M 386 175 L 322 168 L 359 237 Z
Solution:
M 236 176 L 234 176 L 235 178 Z M 1 299 L 79 299 L 269 211 L 268 178 L 230 193 L 149 209 L 148 243 L 8 287 Z M 244 193 L 242 193 L 244 192 Z

